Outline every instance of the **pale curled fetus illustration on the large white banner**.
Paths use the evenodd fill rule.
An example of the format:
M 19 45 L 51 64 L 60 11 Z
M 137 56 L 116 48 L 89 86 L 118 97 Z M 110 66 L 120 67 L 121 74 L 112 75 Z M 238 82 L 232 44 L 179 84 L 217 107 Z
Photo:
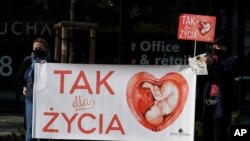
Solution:
M 150 82 L 144 82 L 143 88 L 150 89 L 155 101 L 145 113 L 147 122 L 157 125 L 163 122 L 164 116 L 173 112 L 178 104 L 178 88 L 172 82 L 166 82 L 161 87 Z

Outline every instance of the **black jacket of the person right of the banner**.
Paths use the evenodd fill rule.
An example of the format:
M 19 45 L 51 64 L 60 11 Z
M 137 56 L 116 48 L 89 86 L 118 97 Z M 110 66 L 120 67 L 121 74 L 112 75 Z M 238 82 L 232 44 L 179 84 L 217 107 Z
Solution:
M 205 100 L 209 97 L 211 83 L 217 83 L 221 90 L 221 101 L 216 105 L 214 118 L 221 116 L 231 118 L 232 111 L 238 106 L 234 90 L 236 65 L 234 57 L 224 56 L 208 65 L 208 75 L 197 77 L 196 120 L 204 118 Z

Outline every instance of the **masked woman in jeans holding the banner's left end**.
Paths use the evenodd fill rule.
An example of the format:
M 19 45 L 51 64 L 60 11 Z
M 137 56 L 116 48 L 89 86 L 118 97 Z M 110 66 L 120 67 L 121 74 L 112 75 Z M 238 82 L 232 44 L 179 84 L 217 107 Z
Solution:
M 32 134 L 32 110 L 33 110 L 33 81 L 35 63 L 56 62 L 51 58 L 50 48 L 47 41 L 37 38 L 32 43 L 31 56 L 26 57 L 19 69 L 19 85 L 23 88 L 25 95 L 25 141 L 31 141 Z

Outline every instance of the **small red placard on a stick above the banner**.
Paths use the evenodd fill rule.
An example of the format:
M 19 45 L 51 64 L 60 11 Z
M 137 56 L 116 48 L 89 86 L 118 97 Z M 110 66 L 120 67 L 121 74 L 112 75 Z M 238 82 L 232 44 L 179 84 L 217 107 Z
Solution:
M 181 14 L 179 17 L 178 39 L 213 42 L 215 16 Z

